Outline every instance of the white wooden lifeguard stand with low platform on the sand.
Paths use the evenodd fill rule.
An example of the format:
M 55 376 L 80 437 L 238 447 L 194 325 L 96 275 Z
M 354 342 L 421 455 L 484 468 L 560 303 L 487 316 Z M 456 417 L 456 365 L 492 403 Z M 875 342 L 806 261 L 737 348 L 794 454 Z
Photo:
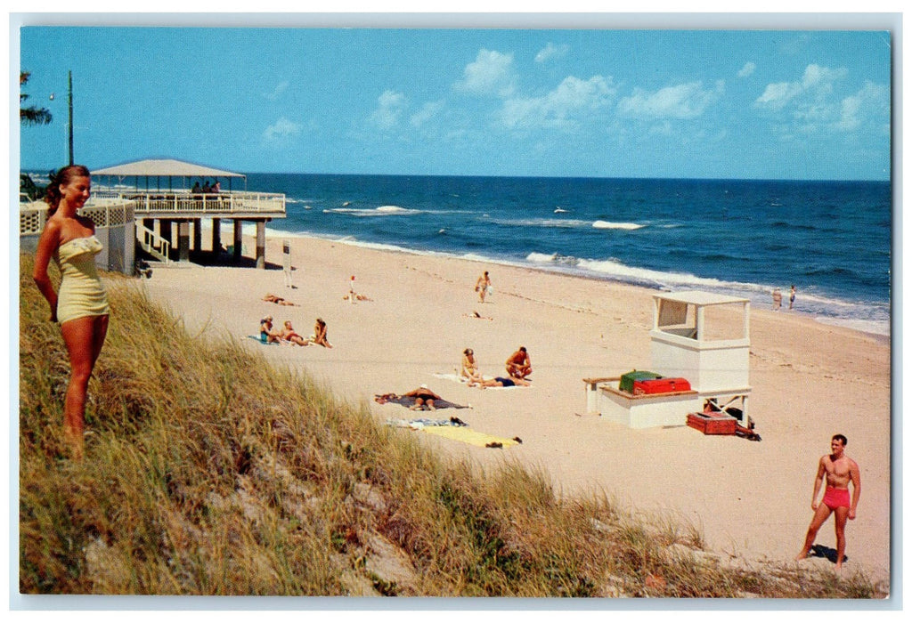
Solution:
M 683 425 L 693 412 L 732 416 L 747 427 L 751 393 L 751 301 L 703 291 L 653 295 L 651 372 L 683 378 L 689 391 L 636 395 L 620 376 L 583 379 L 586 407 L 631 428 Z

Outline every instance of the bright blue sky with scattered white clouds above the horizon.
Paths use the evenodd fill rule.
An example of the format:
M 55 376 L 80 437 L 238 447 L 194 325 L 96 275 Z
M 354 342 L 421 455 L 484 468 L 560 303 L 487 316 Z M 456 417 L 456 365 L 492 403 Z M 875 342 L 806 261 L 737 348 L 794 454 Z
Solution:
M 889 179 L 886 31 L 27 26 L 20 166 Z M 53 101 L 48 99 L 55 94 Z M 14 160 L 15 161 L 15 160 Z

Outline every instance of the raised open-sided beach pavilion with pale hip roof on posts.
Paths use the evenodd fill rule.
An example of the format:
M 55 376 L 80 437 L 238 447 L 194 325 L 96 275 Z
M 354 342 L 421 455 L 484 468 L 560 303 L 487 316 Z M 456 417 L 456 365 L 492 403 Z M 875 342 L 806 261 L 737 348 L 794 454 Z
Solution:
M 191 248 L 202 250 L 203 219 L 212 221 L 210 252 L 220 254 L 223 250 L 222 221 L 232 220 L 233 259 L 241 259 L 242 228 L 244 222 L 252 222 L 256 227 L 256 267 L 265 268 L 266 223 L 285 218 L 284 194 L 249 192 L 246 176 L 233 171 L 161 158 L 127 162 L 91 173 L 98 182 L 93 195 L 99 199 L 126 199 L 133 203 L 140 247 L 164 262 L 189 261 Z M 220 179 L 227 180 L 227 190 L 204 193 L 191 188 L 194 180 L 214 182 Z M 234 182 L 241 180 L 244 189 L 233 189 Z

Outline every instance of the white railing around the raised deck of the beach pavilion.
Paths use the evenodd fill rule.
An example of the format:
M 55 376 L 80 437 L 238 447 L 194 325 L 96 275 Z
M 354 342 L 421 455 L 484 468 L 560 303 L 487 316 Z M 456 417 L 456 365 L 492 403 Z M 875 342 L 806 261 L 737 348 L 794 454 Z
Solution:
M 93 196 L 129 199 L 136 214 L 285 214 L 285 195 L 277 192 L 223 191 L 192 193 L 190 190 L 132 191 L 100 189 Z

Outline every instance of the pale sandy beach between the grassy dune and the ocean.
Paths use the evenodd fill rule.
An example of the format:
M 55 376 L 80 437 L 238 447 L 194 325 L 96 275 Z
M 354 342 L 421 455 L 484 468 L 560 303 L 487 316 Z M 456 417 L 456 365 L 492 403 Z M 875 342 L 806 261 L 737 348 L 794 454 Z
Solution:
M 492 449 L 408 429 L 401 434 L 482 467 L 519 461 L 550 475 L 562 495 L 604 491 L 623 506 L 692 524 L 710 550 L 748 562 L 798 564 L 791 561 L 811 520 L 817 461 L 829 452 L 833 434 L 845 434 L 846 454 L 860 465 L 863 483 L 857 519 L 847 527 L 845 568 L 887 577 L 886 338 L 755 306 L 751 416 L 762 441 L 700 434 L 684 425 L 684 414 L 679 427 L 632 430 L 586 413 L 582 379 L 649 369 L 652 291 L 472 260 L 291 240 L 294 288 L 285 287 L 278 238 L 267 238 L 267 270 L 155 265 L 140 287 L 180 315 L 191 332 L 244 338 L 271 314 L 277 326 L 291 320 L 309 335 L 319 316 L 332 349 L 240 343 L 310 374 L 349 402 L 368 404 L 380 422 L 428 416 L 373 401 L 375 394 L 426 383 L 453 403 L 472 405 L 437 416 L 458 415 L 474 430 L 518 436 L 523 443 Z M 231 244 L 227 236 L 224 241 Z M 481 304 L 473 287 L 485 270 L 493 293 Z M 343 299 L 352 275 L 356 291 L 370 301 Z M 263 301 L 267 292 L 295 306 Z M 472 317 L 476 311 L 482 318 Z M 116 311 L 111 322 L 117 322 Z M 503 376 L 504 360 L 521 345 L 532 359 L 531 387 L 479 390 L 446 378 L 466 347 L 482 373 Z M 832 518 L 817 543 L 835 546 Z M 833 567 L 823 558 L 800 564 Z

